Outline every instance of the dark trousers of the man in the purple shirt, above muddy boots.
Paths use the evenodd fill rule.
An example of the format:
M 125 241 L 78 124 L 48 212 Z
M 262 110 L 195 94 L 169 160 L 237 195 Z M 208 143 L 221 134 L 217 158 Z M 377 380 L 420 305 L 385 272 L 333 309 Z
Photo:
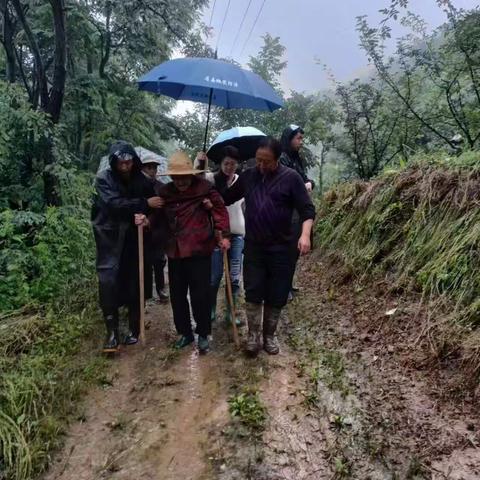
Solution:
M 243 282 L 248 303 L 284 307 L 292 283 L 291 246 L 263 247 L 246 242 Z

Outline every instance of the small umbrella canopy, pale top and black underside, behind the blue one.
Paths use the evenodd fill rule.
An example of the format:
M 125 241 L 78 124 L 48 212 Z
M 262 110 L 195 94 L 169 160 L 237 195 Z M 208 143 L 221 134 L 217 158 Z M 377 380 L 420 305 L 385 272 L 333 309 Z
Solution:
M 232 145 L 240 152 L 242 160 L 248 160 L 255 156 L 258 143 L 265 134 L 254 127 L 234 127 L 221 132 L 208 149 L 207 156 L 215 163 L 222 160 L 224 147 Z

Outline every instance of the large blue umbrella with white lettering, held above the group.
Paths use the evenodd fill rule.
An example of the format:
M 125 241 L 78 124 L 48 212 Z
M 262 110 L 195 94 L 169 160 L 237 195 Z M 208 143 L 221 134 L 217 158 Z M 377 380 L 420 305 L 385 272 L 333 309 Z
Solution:
M 176 100 L 208 103 L 204 150 L 212 105 L 273 112 L 283 100 L 257 74 L 213 58 L 179 58 L 164 62 L 138 80 L 140 90 Z

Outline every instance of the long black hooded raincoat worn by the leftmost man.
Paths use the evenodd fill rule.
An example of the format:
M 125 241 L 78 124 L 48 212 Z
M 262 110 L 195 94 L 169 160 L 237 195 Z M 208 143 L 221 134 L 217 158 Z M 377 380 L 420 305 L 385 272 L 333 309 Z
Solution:
M 130 153 L 134 168 L 128 182 L 115 169 L 115 152 Z M 138 241 L 135 213 L 148 213 L 153 185 L 140 171 L 135 150 L 118 142 L 111 148 L 110 169 L 95 179 L 92 225 L 97 246 L 100 305 L 110 310 L 134 302 L 138 290 Z M 135 271 L 137 272 L 135 274 Z

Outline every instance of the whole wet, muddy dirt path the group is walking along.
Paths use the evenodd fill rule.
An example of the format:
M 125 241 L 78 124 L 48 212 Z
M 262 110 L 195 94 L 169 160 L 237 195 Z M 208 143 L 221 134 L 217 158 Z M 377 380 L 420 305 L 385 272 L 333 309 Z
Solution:
M 221 321 L 208 355 L 175 352 L 170 307 L 150 306 L 148 346 L 111 362 L 42 480 L 480 478 L 478 404 L 419 360 L 418 305 L 320 260 L 301 269 L 277 357 L 244 358 Z M 258 405 L 230 414 L 244 395 L 262 425 Z

